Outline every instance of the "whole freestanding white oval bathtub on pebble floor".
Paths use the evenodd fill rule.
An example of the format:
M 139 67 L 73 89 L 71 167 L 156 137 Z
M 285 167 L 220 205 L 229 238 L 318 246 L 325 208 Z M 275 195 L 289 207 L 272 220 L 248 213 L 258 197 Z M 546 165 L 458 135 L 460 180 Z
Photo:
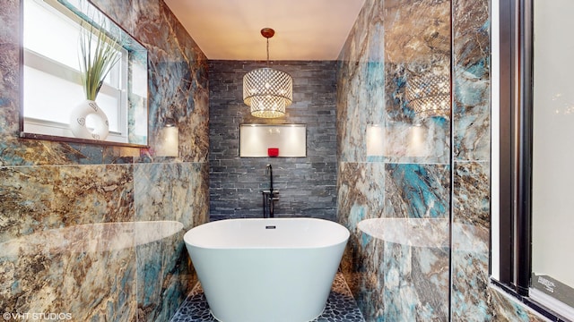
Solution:
M 314 218 L 227 219 L 184 235 L 213 317 L 304 322 L 321 315 L 349 231 Z

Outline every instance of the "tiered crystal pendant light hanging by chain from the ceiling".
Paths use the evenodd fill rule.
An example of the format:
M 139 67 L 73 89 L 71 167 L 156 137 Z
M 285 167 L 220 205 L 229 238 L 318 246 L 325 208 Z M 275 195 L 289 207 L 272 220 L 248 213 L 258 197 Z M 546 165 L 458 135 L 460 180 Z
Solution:
M 243 76 L 243 102 L 251 107 L 251 114 L 256 117 L 282 117 L 285 107 L 293 100 L 291 75 L 269 67 L 269 38 L 274 34 L 271 28 L 261 30 L 261 35 L 267 38 L 267 66 Z

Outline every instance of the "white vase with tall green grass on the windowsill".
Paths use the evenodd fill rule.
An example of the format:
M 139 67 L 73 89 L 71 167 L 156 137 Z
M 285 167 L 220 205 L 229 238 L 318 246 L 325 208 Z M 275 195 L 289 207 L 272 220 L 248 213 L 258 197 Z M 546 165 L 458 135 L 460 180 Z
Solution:
M 108 116 L 96 103 L 101 84 L 120 58 L 117 39 L 109 37 L 103 28 L 82 26 L 79 39 L 80 74 L 85 100 L 75 106 L 70 116 L 70 129 L 82 139 L 105 140 L 109 133 Z M 93 130 L 86 126 L 86 117 L 93 114 Z

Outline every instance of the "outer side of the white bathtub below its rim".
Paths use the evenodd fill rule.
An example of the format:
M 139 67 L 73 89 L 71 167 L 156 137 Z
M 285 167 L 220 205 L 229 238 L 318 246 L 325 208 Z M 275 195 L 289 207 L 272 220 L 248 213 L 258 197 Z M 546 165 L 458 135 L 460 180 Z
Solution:
M 336 250 L 210 251 L 216 255 L 201 256 L 212 257 L 218 267 L 196 265 L 194 257 L 192 261 L 213 316 L 223 322 L 307 322 L 317 318 L 325 309 L 340 261 Z

